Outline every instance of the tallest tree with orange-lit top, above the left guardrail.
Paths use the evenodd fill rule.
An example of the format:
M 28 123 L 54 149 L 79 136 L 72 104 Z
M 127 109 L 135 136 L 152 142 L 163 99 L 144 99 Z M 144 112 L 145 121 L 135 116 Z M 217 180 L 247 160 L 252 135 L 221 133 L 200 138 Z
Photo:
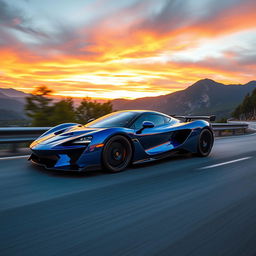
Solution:
M 32 119 L 32 126 L 49 125 L 52 99 L 47 96 L 51 93 L 52 90 L 46 86 L 40 86 L 26 98 L 25 111 L 27 116 Z

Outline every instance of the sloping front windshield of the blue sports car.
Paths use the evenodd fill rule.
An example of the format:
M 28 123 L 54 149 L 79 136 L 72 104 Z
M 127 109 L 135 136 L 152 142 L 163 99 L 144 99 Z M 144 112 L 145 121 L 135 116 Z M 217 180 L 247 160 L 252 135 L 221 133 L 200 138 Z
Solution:
M 138 113 L 136 112 L 114 112 L 98 118 L 85 126 L 95 128 L 127 127 L 137 115 Z

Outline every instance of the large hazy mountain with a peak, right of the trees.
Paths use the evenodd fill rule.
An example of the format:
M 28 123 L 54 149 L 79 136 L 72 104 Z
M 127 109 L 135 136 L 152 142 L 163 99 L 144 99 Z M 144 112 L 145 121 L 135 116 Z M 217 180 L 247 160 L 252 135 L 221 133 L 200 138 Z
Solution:
M 229 117 L 246 94 L 256 88 L 256 81 L 247 84 L 224 85 L 211 79 L 199 80 L 188 88 L 158 97 L 112 101 L 116 110 L 150 109 L 166 114 L 214 114 Z

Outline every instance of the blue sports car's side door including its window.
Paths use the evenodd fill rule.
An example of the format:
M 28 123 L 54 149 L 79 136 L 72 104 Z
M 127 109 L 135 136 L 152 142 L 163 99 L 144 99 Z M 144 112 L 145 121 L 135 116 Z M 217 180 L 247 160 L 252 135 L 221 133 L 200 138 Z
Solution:
M 137 139 L 146 151 L 170 141 L 169 126 L 165 116 L 145 113 L 134 122 L 133 129 L 140 130 L 144 121 L 153 122 L 155 125 L 153 128 L 146 128 L 141 133 L 136 133 Z

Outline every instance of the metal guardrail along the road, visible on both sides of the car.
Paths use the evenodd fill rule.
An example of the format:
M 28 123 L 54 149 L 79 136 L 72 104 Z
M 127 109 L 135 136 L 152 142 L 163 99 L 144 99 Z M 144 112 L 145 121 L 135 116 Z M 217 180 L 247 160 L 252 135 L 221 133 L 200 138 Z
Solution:
M 51 127 L 6 127 L 0 128 L 0 144 L 10 144 L 11 151 L 17 151 L 17 144 L 28 143 L 35 140 L 42 133 L 46 132 Z M 223 131 L 232 131 L 236 134 L 238 130 L 246 132 L 248 129 L 247 123 L 212 123 L 213 131 L 217 136 L 221 136 Z

